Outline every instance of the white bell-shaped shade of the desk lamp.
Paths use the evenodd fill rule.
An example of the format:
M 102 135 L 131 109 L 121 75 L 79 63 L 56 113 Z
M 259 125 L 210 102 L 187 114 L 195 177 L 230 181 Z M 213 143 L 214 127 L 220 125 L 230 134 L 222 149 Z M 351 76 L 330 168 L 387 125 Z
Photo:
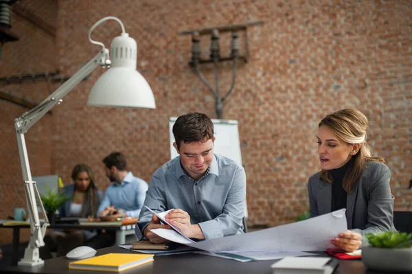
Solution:
M 155 96 L 146 79 L 136 70 L 137 43 L 127 33 L 111 43 L 111 68 L 95 82 L 89 106 L 155 109 Z

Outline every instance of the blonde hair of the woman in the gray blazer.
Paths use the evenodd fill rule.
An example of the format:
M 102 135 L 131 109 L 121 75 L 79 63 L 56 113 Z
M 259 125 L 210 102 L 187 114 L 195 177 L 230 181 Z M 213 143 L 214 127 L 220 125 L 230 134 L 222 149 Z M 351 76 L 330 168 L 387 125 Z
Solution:
M 350 167 L 347 169 L 342 185 L 346 192 L 351 192 L 351 186 L 361 177 L 365 163 L 379 161 L 385 163 L 383 158 L 372 157 L 372 149 L 367 144 L 367 117 L 356 109 L 342 109 L 327 115 L 319 123 L 328 128 L 348 144 L 361 144 L 356 155 L 352 156 Z M 321 170 L 321 179 L 332 183 L 333 179 L 329 170 Z

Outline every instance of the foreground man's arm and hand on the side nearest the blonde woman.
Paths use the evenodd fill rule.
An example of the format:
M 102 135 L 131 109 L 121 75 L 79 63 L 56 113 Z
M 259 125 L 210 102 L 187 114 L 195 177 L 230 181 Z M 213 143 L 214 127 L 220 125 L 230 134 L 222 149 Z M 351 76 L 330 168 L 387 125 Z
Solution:
M 236 234 L 242 227 L 244 207 L 246 206 L 246 174 L 243 168 L 236 170 L 229 194 L 223 206 L 222 214 L 213 220 L 200 222 L 198 225 L 190 224 L 190 216 L 181 209 L 173 213 L 179 214 L 173 225 L 179 227 L 183 234 L 189 238 L 212 239 Z M 172 213 L 172 212 L 171 212 Z M 170 216 L 168 214 L 168 220 Z

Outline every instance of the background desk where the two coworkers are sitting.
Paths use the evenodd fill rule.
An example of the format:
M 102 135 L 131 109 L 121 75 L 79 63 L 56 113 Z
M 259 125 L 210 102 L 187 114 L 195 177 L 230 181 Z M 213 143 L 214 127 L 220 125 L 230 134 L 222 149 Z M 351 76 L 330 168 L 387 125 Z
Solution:
M 135 233 L 136 225 L 122 225 L 122 226 L 100 226 L 95 225 L 78 225 L 78 224 L 55 224 L 50 225 L 47 229 L 99 229 L 99 230 L 111 230 L 116 233 L 115 244 L 125 244 L 126 236 Z M 13 229 L 13 245 L 12 245 L 12 265 L 16 266 L 19 260 L 19 242 L 20 242 L 20 229 L 30 229 L 30 225 L 3 225 L 0 224 L 0 229 Z

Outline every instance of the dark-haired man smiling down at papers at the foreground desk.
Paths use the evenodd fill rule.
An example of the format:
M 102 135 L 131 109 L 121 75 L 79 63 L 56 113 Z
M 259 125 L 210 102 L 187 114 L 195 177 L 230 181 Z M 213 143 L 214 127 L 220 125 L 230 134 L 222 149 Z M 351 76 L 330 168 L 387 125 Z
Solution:
M 166 220 L 198 240 L 243 233 L 246 174 L 235 161 L 214 154 L 214 126 L 202 113 L 188 113 L 173 126 L 179 156 L 156 170 L 144 205 L 154 212 L 174 209 Z M 143 207 L 136 226 L 139 240 L 165 239 L 150 229 L 170 229 Z

